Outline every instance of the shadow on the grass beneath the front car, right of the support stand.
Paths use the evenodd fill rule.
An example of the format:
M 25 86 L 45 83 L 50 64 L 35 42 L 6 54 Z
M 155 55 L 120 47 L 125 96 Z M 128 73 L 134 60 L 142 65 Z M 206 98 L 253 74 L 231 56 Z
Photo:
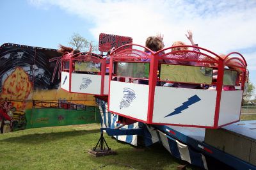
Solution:
M 111 147 L 111 146 L 109 146 Z M 113 148 L 115 150 L 115 148 Z M 186 165 L 188 169 L 201 169 L 184 160 L 173 157 L 161 144 L 153 144 L 150 148 L 118 148 L 117 155 L 106 157 L 90 157 L 95 162 L 95 169 L 177 169 Z

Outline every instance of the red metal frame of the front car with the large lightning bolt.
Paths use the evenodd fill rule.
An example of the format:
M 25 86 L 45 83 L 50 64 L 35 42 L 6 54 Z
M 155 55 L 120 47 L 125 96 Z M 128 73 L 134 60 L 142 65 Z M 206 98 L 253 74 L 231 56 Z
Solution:
M 125 47 L 127 46 L 136 46 L 136 47 L 142 47 L 144 49 L 144 51 L 141 50 L 137 50 L 137 49 L 125 49 Z M 138 120 L 138 121 L 142 121 L 144 123 L 148 123 L 148 124 L 156 124 L 156 125 L 177 125 L 177 124 L 168 124 L 168 123 L 154 123 L 152 122 L 152 116 L 153 116 L 153 109 L 154 109 L 154 93 L 155 93 L 155 87 L 157 84 L 157 70 L 158 70 L 158 65 L 161 59 L 170 59 L 168 58 L 168 55 L 170 54 L 177 54 L 177 51 L 175 52 L 166 52 L 167 50 L 171 50 L 173 48 L 177 48 L 177 47 L 193 47 L 195 49 L 199 49 L 200 52 L 198 51 L 192 51 L 192 50 L 180 50 L 179 52 L 193 52 L 196 53 L 198 55 L 203 55 L 204 58 L 200 58 L 200 60 L 196 60 L 196 59 L 179 59 L 179 58 L 171 58 L 172 60 L 176 60 L 176 61 L 191 61 L 191 62 L 196 62 L 196 63 L 212 63 L 214 66 L 209 66 L 212 68 L 218 68 L 218 79 L 216 82 L 216 109 L 215 109 L 215 114 L 214 114 L 214 125 L 212 127 L 207 127 L 207 126 L 199 126 L 199 125 L 181 125 L 184 127 L 205 127 L 205 128 L 219 128 L 219 127 L 223 127 L 225 125 L 229 125 L 231 123 L 227 123 L 225 125 L 220 125 L 218 126 L 218 119 L 219 119 L 219 112 L 220 112 L 220 101 L 221 101 L 221 91 L 223 88 L 223 75 L 224 75 L 224 66 L 225 64 L 230 61 L 230 60 L 237 60 L 240 63 L 242 63 L 241 65 L 237 66 L 234 65 L 234 67 L 236 68 L 243 68 L 243 82 L 241 84 L 242 88 L 244 88 L 244 81 L 246 80 L 246 61 L 244 60 L 243 56 L 238 53 L 238 52 L 231 52 L 230 54 L 228 54 L 225 58 L 221 58 L 220 56 L 218 56 L 218 54 L 215 54 L 214 52 L 211 52 L 210 50 L 204 49 L 202 47 L 196 47 L 196 46 L 192 46 L 192 45 L 180 45 L 180 46 L 175 46 L 175 47 L 168 47 L 166 49 L 162 49 L 159 50 L 157 52 L 154 52 L 150 49 L 148 49 L 147 47 L 143 47 L 142 45 L 136 45 L 136 44 L 127 44 L 124 45 L 122 47 L 119 47 L 118 49 L 116 49 L 115 51 L 113 51 L 111 53 L 111 59 L 110 59 L 110 67 L 109 67 L 109 73 L 113 72 L 113 64 L 115 62 L 147 62 L 150 63 L 150 72 L 149 72 L 149 78 L 148 78 L 148 86 L 149 86 L 149 93 L 148 93 L 148 114 L 147 114 L 147 121 L 142 121 L 142 120 L 138 120 L 136 118 L 131 118 L 130 116 L 126 116 L 122 113 L 118 113 L 118 112 L 113 112 L 115 114 L 118 114 L 120 116 L 124 116 L 126 118 L 130 118 L 133 120 Z M 132 55 L 131 52 L 140 52 L 140 54 L 135 54 Z M 146 53 L 145 51 L 149 52 Z M 166 52 L 166 53 L 164 53 Z M 232 57 L 234 54 L 238 55 L 239 58 L 237 57 Z M 137 56 L 136 56 L 137 55 Z M 228 59 L 227 59 L 228 58 Z M 141 61 L 141 59 L 150 59 L 150 61 Z M 111 86 L 111 80 L 115 75 L 109 74 L 109 94 L 111 93 L 110 91 L 110 86 Z M 132 77 L 128 77 L 129 79 L 132 79 Z M 136 78 L 138 79 L 138 78 Z M 161 81 L 161 80 L 160 80 Z M 187 82 L 186 82 L 187 83 Z M 212 82 L 212 84 L 215 84 L 214 82 Z M 110 97 L 109 97 L 110 98 Z M 108 108 L 110 104 L 110 99 L 108 98 Z M 239 120 L 237 120 L 239 121 Z M 232 123 L 235 123 L 237 121 L 233 121 Z M 180 125 L 179 125 L 180 126 Z

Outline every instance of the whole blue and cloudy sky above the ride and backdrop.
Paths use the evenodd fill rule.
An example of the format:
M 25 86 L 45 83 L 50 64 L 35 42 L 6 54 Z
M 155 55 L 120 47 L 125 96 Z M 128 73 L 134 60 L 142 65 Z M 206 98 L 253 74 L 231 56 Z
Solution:
M 165 47 L 176 40 L 195 43 L 217 54 L 243 54 L 256 84 L 256 1 L 0 1 L 0 43 L 56 49 L 72 33 L 99 42 L 100 33 L 131 36 L 145 45 L 162 33 Z

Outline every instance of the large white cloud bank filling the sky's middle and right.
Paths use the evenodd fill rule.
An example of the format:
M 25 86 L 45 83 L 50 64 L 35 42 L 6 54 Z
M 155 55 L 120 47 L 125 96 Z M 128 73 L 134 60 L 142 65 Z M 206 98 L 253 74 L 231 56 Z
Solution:
M 145 44 L 147 36 L 164 34 L 166 47 L 175 40 L 186 43 L 186 29 L 195 42 L 219 53 L 256 47 L 256 1 L 93 1 L 30 0 L 36 6 L 56 5 L 72 15 L 92 22 L 95 40 L 100 33 L 131 36 Z M 250 56 L 254 54 L 249 54 Z M 246 57 L 247 58 L 247 57 Z M 250 58 L 254 58 L 250 56 Z M 248 59 L 250 59 L 248 58 Z M 256 69 L 255 59 L 250 68 Z

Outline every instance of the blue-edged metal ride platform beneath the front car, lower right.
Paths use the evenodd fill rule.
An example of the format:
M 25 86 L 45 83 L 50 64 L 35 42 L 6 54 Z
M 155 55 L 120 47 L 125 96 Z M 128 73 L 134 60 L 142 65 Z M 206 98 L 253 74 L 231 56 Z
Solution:
M 243 126 L 241 128 L 241 126 Z M 177 126 L 160 126 L 154 125 L 154 128 L 163 132 L 168 139 L 178 140 L 179 142 L 186 144 L 189 148 L 193 148 L 194 150 L 202 153 L 203 155 L 208 155 L 209 157 L 216 158 L 221 162 L 224 162 L 230 167 L 234 167 L 234 169 L 256 169 L 255 164 L 255 141 L 256 141 L 256 120 L 253 121 L 239 121 L 237 123 L 233 123 L 231 125 L 227 125 L 223 128 L 214 130 L 215 134 L 212 132 L 207 132 L 208 130 L 205 128 L 195 128 L 195 127 L 177 127 Z M 253 131 L 254 130 L 254 131 Z M 220 133 L 216 132 L 226 132 L 226 135 L 220 135 Z M 206 132 L 206 133 L 205 133 Z M 228 134 L 233 135 L 233 139 L 228 136 Z M 224 138 L 226 138 L 224 140 Z M 250 140 L 251 143 L 246 145 L 246 143 L 237 143 L 237 141 L 241 140 Z M 211 141 L 209 143 L 209 141 Z M 228 141 L 227 143 L 225 141 Z M 207 144 L 208 143 L 208 144 Z M 225 146 L 228 148 L 228 145 L 234 146 L 236 148 L 232 148 L 232 150 L 228 151 L 223 150 L 218 146 Z M 246 150 L 245 148 L 250 148 Z M 236 152 L 236 150 L 239 150 Z M 244 150 L 241 152 L 241 150 Z M 237 155 L 240 153 L 242 155 Z M 243 155 L 247 153 L 247 160 L 244 159 Z M 243 159 L 244 160 L 243 160 Z

